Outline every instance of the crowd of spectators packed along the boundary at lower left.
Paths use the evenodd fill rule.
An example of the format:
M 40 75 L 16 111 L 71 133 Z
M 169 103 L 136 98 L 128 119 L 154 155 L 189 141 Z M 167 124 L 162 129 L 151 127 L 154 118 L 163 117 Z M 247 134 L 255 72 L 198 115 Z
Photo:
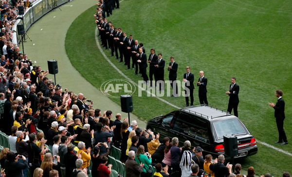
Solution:
M 9 5 L 4 2 L 0 9 L 2 3 Z M 19 4 L 5 7 L 3 19 Z M 104 14 L 101 9 L 96 16 Z M 232 165 L 225 164 L 223 155 L 215 160 L 211 155 L 203 159 L 203 149 L 191 149 L 189 141 L 178 147 L 178 138 L 170 142 L 165 137 L 160 142 L 159 133 L 140 128 L 135 120 L 129 123 L 124 118 L 122 122 L 119 113 L 112 120 L 111 110 L 102 113 L 82 93 L 55 85 L 46 77 L 48 71 L 33 66 L 28 56 L 3 36 L 0 42 L 7 53 L 1 47 L 0 130 L 9 135 L 10 149 L 0 153 L 0 165 L 5 169 L 1 169 L 0 177 L 27 177 L 29 169 L 33 177 L 88 177 L 90 173 L 93 177 L 109 177 L 112 145 L 121 149 L 120 160 L 125 163 L 127 177 L 148 177 L 152 174 L 150 165 L 156 168 L 154 177 L 242 177 L 241 165 L 236 164 L 232 173 Z M 247 177 L 254 175 L 255 169 L 250 167 Z M 285 172 L 283 177 L 290 174 Z

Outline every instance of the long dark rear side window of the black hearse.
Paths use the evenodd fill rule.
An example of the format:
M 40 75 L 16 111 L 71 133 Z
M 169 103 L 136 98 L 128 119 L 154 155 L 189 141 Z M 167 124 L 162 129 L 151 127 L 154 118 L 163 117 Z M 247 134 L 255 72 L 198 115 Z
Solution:
M 174 124 L 174 130 L 183 132 L 201 142 L 209 142 L 208 123 L 181 113 Z

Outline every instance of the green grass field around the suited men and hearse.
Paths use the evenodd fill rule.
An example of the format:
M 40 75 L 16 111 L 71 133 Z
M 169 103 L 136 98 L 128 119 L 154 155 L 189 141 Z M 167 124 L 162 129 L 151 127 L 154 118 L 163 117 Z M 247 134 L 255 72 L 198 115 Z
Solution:
M 178 80 L 182 79 L 185 66 L 191 67 L 197 79 L 203 70 L 208 78 L 209 105 L 227 109 L 225 91 L 235 76 L 240 86 L 240 120 L 257 140 L 292 153 L 289 144 L 273 143 L 278 133 L 274 109 L 268 106 L 268 102 L 276 102 L 275 90 L 282 89 L 287 117 L 284 128 L 291 142 L 291 7 L 292 2 L 285 0 L 124 0 L 121 9 L 113 11 L 108 21 L 143 42 L 147 56 L 155 48 L 156 53 L 163 53 L 166 65 L 169 57 L 174 56 L 179 64 Z M 124 78 L 97 47 L 95 8 L 92 6 L 74 20 L 65 47 L 76 70 L 99 89 L 107 80 Z M 110 51 L 104 52 L 110 55 Z M 134 82 L 141 80 L 113 57 L 110 60 Z M 167 78 L 165 68 L 164 79 Z M 199 105 L 197 88 L 194 97 L 194 105 Z M 162 98 L 179 107 L 185 105 L 184 97 Z M 120 104 L 120 99 L 112 100 Z M 146 97 L 146 93 L 138 97 L 137 92 L 133 94 L 133 106 L 133 114 L 146 121 L 176 109 L 157 98 Z M 258 154 L 241 161 L 244 169 L 254 166 L 256 175 L 271 173 L 275 177 L 284 171 L 292 172 L 291 156 L 257 144 Z

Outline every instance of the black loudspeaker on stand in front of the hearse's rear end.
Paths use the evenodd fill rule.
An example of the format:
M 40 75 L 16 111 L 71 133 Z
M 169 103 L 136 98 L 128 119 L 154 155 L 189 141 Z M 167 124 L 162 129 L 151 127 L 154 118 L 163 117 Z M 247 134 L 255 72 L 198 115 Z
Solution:
M 238 154 L 237 137 L 235 136 L 223 136 L 224 141 L 224 153 L 232 160 L 234 166 L 234 157 Z M 234 168 L 233 168 L 234 169 Z

